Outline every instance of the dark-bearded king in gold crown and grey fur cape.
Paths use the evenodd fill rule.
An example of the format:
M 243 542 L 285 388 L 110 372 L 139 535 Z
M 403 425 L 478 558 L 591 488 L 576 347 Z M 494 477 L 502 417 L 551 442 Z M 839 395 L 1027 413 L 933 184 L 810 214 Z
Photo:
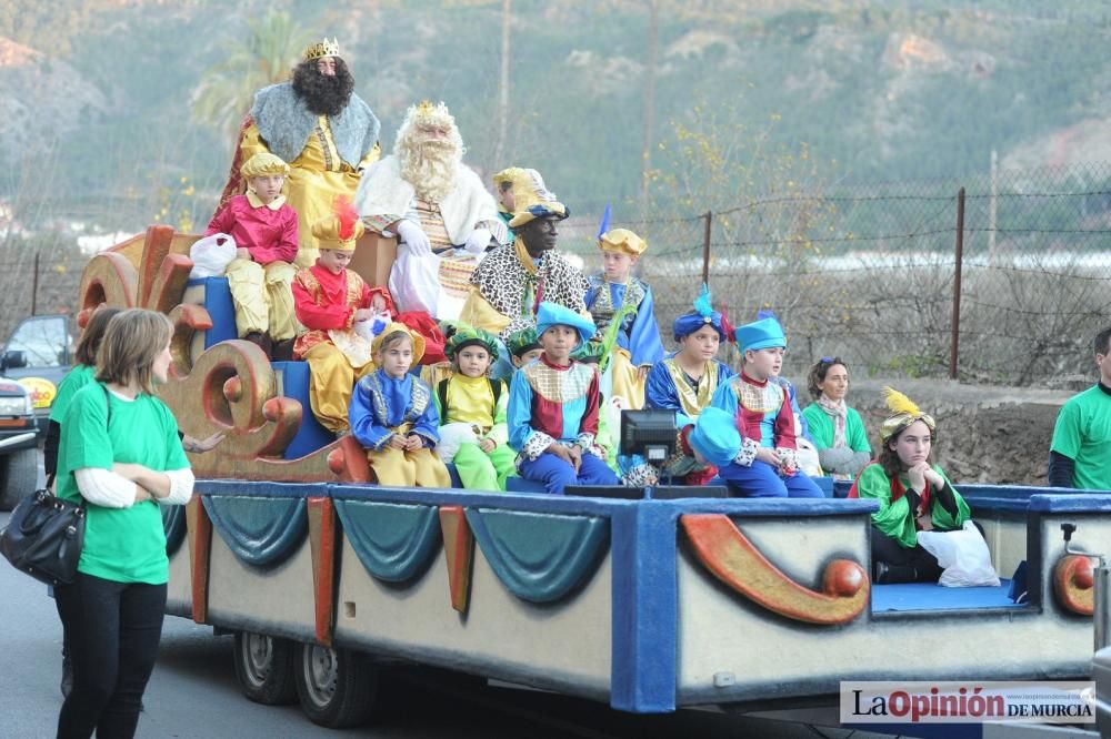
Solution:
M 244 120 L 223 204 L 242 192 L 239 163 L 259 152 L 289 162 L 286 199 L 298 213 L 298 267 L 316 263 L 312 224 L 332 212 L 337 196 L 351 199 L 363 172 L 378 159 L 381 126 L 354 92 L 354 79 L 337 39 L 306 48 L 288 82 L 263 88 Z

